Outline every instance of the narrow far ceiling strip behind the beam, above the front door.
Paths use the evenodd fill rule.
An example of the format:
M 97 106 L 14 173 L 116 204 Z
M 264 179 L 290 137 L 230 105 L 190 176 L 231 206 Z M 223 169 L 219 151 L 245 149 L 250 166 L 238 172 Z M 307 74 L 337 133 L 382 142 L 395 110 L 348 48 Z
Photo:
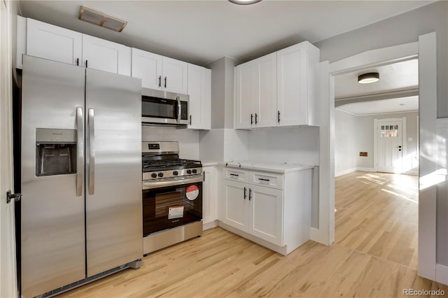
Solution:
M 337 109 L 353 115 L 374 115 L 386 113 L 419 111 L 419 97 L 400 97 L 377 101 L 364 101 L 338 106 Z

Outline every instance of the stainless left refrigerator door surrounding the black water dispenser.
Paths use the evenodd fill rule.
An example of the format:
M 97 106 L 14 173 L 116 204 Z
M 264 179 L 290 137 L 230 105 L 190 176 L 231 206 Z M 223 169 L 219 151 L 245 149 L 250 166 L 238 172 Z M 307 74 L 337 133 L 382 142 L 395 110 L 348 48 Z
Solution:
M 23 58 L 23 297 L 41 295 L 85 278 L 84 197 L 76 195 L 77 173 L 84 171 L 83 164 L 77 166 L 77 173 L 36 176 L 36 129 L 54 129 L 56 139 L 57 129 L 76 131 L 76 108 L 84 109 L 84 80 L 85 69 L 81 67 Z M 83 117 L 78 121 L 83 133 Z M 60 150 L 55 154 L 61 154 Z

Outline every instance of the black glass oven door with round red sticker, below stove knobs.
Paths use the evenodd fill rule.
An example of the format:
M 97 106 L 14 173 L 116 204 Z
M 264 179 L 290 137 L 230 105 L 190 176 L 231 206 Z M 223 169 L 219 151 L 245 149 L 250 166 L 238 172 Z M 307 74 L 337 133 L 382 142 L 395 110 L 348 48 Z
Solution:
M 202 179 L 169 184 L 143 190 L 143 236 L 202 220 Z

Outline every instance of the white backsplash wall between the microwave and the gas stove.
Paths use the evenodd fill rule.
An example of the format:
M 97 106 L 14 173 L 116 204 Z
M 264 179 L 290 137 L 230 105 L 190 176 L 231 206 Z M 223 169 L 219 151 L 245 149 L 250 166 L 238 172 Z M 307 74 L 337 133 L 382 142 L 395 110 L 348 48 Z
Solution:
M 193 129 L 176 129 L 176 127 L 141 127 L 142 141 L 179 141 L 179 157 L 200 159 L 199 131 Z

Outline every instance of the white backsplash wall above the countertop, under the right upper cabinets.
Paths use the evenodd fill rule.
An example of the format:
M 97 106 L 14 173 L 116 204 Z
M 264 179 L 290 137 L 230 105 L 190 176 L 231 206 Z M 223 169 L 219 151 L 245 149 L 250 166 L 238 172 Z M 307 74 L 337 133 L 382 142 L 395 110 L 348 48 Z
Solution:
M 248 159 L 318 165 L 318 127 L 273 127 L 248 132 Z

